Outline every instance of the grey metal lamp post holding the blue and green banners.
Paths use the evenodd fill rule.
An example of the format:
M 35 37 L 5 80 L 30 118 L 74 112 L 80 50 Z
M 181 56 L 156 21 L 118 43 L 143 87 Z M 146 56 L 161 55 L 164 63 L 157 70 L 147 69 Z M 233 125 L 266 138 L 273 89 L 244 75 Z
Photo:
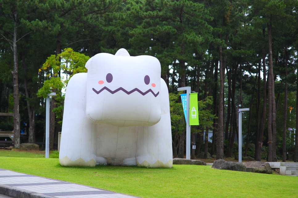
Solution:
M 180 87 L 178 91 L 186 91 L 186 159 L 190 160 L 190 125 L 189 125 L 189 99 L 191 87 Z

